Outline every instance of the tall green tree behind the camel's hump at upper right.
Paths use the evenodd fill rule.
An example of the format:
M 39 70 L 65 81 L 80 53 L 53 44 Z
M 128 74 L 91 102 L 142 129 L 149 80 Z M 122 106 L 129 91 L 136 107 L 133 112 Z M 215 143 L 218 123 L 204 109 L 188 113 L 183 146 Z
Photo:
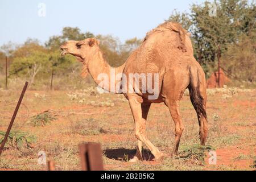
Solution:
M 216 68 L 218 46 L 221 54 L 230 44 L 241 41 L 240 36 L 250 36 L 255 32 L 256 9 L 254 3 L 244 0 L 219 0 L 216 16 L 210 16 L 213 3 L 193 4 L 191 14 L 174 11 L 168 21 L 179 22 L 192 34 L 194 56 L 204 71 L 209 73 Z

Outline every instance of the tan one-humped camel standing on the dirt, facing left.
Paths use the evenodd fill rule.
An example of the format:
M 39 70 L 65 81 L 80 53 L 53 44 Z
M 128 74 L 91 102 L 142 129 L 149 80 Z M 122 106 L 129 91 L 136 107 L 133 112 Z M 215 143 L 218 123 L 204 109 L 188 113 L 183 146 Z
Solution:
M 159 93 L 158 97 L 153 99 L 150 99 L 151 93 L 141 92 L 141 86 L 139 86 L 139 92 L 135 93 L 122 93 L 119 92 L 120 90 L 113 91 L 110 86 L 104 88 L 112 93 L 123 94 L 129 101 L 135 123 L 135 137 L 138 141 L 137 152 L 134 158 L 130 160 L 131 162 L 143 160 L 143 143 L 154 155 L 155 160 L 161 160 L 166 156 L 148 140 L 146 135 L 146 119 L 152 103 L 164 102 L 170 111 L 175 123 L 175 143 L 171 155 L 177 154 L 181 134 L 184 130 L 179 111 L 179 101 L 187 88 L 200 126 L 200 142 L 201 145 L 205 145 L 208 133 L 205 74 L 200 64 L 193 57 L 189 33 L 179 27 L 181 27 L 179 24 L 171 22 L 160 24 L 160 26 L 147 33 L 141 46 L 135 49 L 126 62 L 117 68 L 111 67 L 105 60 L 99 47 L 100 42 L 95 38 L 81 41 L 69 40 L 60 46 L 61 55 L 69 53 L 75 56 L 77 60 L 83 63 L 82 75 L 86 76 L 90 73 L 98 85 L 100 85 L 101 80 L 98 80 L 97 76 L 101 73 L 111 76 L 110 72 L 113 69 L 115 75 L 120 73 L 125 76 L 129 76 L 131 73 L 158 74 L 155 81 L 158 81 L 156 88 L 158 88 Z M 123 77 L 115 80 L 110 79 L 109 85 L 114 84 L 118 87 L 118 83 L 122 82 L 122 79 Z M 126 84 L 129 85 L 129 83 L 123 85 Z M 131 84 L 131 88 L 134 90 L 135 86 L 134 83 Z

